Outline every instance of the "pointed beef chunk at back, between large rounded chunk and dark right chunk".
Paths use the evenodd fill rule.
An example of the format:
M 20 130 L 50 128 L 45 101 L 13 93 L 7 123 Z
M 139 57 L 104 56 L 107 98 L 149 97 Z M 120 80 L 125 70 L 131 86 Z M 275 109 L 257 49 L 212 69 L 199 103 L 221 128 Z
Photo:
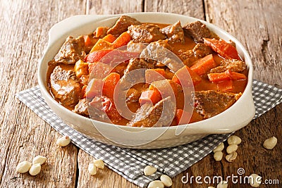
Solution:
M 160 30 L 166 37 L 168 37 L 168 41 L 171 43 L 181 42 L 184 43 L 184 32 L 181 27 L 180 21 L 174 23 L 173 25 L 168 25 Z

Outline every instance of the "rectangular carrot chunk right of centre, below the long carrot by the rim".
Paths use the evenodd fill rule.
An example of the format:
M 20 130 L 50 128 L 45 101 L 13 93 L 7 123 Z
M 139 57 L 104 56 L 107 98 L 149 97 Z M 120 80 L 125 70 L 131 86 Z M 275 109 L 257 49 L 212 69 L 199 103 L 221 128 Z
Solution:
M 212 68 L 216 67 L 216 62 L 214 61 L 214 57 L 212 54 L 204 56 L 204 58 L 200 58 L 195 61 L 195 64 L 192 65 L 191 70 L 193 70 L 198 75 L 204 75 Z

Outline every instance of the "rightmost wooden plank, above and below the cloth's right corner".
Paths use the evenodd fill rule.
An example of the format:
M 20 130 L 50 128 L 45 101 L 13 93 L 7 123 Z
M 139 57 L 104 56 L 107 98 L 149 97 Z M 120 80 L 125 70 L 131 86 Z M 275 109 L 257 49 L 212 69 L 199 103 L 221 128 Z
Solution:
M 250 52 L 257 80 L 282 88 L 281 1 L 210 1 L 205 0 L 207 20 L 230 32 Z M 281 139 L 282 105 L 252 121 L 238 134 L 243 143 L 238 158 L 233 163 L 223 160 L 223 173 L 237 175 L 238 168 L 245 175 L 257 173 L 263 179 L 281 180 L 281 145 L 273 151 L 262 147 L 265 139 L 275 136 Z M 238 185 L 239 186 L 239 185 Z M 273 185 L 275 187 L 275 185 Z M 249 187 L 240 184 L 240 187 Z M 263 187 L 263 186 L 261 186 Z

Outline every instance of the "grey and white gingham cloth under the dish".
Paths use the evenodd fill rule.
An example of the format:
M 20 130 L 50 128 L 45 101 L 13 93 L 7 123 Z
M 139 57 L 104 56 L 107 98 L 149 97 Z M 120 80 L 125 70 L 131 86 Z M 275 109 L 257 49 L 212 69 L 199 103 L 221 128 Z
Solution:
M 257 80 L 253 81 L 252 94 L 256 107 L 255 118 L 282 102 L 282 89 Z M 38 86 L 19 92 L 16 96 L 51 127 L 70 137 L 73 144 L 94 158 L 102 158 L 111 170 L 140 187 L 146 187 L 149 182 L 156 180 L 161 174 L 170 177 L 178 175 L 211 153 L 219 143 L 232 134 L 211 134 L 190 144 L 168 149 L 123 149 L 89 139 L 68 127 L 44 102 Z M 157 168 L 157 173 L 150 176 L 143 175 L 146 165 Z

